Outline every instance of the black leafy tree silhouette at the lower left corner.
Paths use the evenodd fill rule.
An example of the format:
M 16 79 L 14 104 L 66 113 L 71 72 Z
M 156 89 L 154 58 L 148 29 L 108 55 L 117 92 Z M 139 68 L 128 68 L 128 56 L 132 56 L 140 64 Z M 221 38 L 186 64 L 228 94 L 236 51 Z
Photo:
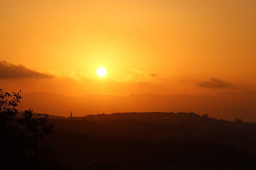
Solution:
M 0 162 L 6 167 L 36 167 L 46 152 L 42 138 L 52 132 L 53 125 L 47 115 L 33 117 L 30 109 L 20 116 L 20 99 L 20 92 L 10 94 L 0 89 Z

